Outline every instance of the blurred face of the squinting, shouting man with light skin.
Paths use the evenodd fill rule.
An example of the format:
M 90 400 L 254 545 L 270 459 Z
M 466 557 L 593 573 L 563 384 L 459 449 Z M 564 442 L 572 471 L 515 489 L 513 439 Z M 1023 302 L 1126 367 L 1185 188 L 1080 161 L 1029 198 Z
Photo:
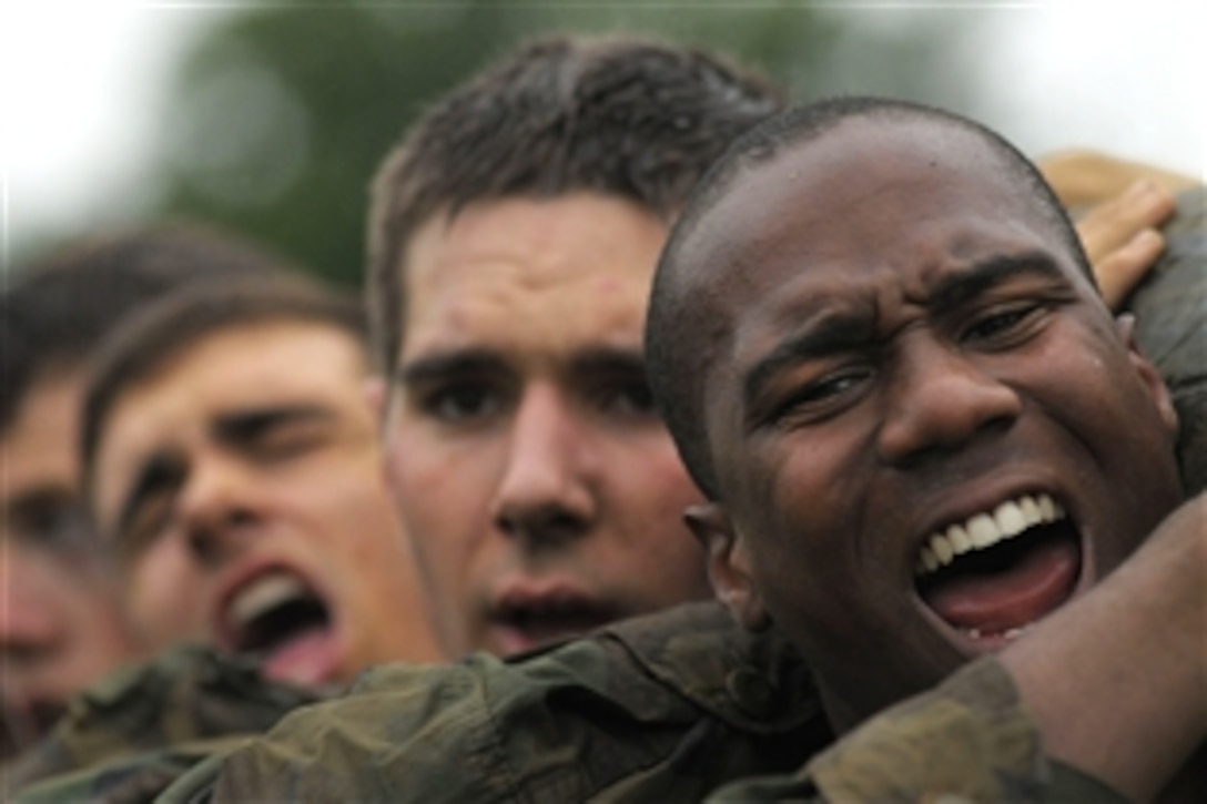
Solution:
M 365 372 L 342 330 L 255 324 L 118 396 L 93 496 L 152 645 L 256 653 L 299 683 L 433 658 Z

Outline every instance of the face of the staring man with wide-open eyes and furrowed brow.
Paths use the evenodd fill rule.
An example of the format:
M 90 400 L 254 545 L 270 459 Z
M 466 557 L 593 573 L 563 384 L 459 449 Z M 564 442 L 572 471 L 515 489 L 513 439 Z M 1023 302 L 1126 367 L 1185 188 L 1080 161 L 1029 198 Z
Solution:
M 387 471 L 450 654 L 707 595 L 641 351 L 665 237 L 577 194 L 473 204 L 412 243 Z

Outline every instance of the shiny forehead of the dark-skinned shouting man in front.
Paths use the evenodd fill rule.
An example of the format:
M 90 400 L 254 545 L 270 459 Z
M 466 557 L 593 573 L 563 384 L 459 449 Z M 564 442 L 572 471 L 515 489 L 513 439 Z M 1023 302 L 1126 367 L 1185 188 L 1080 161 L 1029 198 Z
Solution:
M 678 282 L 716 321 L 805 272 L 891 260 L 957 226 L 1059 241 L 1033 188 L 980 135 L 944 121 L 852 118 L 741 168 L 682 240 Z

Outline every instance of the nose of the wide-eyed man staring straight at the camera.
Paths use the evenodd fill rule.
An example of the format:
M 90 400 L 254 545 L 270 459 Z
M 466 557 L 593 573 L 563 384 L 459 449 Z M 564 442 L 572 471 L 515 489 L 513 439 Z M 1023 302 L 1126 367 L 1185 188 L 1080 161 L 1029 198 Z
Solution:
M 587 532 L 596 507 L 589 427 L 559 389 L 525 389 L 492 506 L 505 534 L 547 546 Z

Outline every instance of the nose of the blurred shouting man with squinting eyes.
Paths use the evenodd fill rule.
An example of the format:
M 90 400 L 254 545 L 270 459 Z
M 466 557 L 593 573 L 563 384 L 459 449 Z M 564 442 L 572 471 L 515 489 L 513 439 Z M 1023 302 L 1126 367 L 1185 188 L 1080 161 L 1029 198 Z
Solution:
M 234 458 L 198 458 L 177 500 L 177 515 L 189 554 L 216 569 L 247 546 L 263 520 L 256 478 Z

